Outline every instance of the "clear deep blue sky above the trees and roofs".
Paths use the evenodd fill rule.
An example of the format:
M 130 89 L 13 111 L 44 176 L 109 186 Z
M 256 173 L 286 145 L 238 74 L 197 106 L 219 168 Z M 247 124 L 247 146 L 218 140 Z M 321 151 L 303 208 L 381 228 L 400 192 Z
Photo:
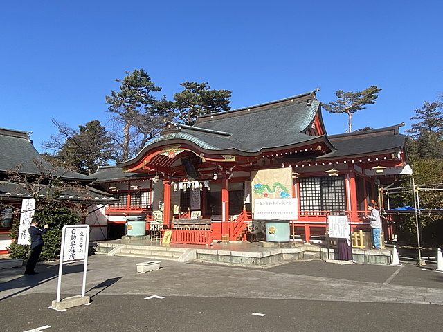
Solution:
M 0 127 L 33 131 L 107 119 L 116 78 L 144 68 L 172 98 L 184 81 L 233 91 L 246 107 L 320 87 L 370 85 L 377 103 L 353 128 L 410 125 L 443 92 L 443 1 L 4 1 Z M 323 112 L 328 133 L 347 128 Z

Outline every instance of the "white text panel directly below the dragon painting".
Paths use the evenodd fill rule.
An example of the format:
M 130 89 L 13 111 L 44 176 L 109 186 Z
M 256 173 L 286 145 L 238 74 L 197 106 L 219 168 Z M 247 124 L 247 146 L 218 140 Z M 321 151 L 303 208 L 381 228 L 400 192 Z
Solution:
M 297 199 L 255 199 L 254 219 L 297 220 Z

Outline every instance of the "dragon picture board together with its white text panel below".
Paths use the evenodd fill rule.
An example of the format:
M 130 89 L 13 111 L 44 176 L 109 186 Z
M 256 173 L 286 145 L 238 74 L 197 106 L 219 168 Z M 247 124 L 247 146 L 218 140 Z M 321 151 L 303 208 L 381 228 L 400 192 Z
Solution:
M 297 219 L 291 167 L 253 172 L 251 192 L 254 219 Z

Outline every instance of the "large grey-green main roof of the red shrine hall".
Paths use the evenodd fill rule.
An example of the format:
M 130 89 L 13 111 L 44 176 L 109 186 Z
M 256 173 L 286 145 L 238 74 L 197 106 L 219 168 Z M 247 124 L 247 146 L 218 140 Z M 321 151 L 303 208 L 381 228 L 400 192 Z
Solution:
M 307 129 L 320 111 L 315 91 L 293 97 L 201 116 L 195 126 L 172 124 L 151 144 L 166 140 L 188 140 L 202 149 L 256 153 L 314 140 Z M 323 125 L 323 124 L 322 124 Z

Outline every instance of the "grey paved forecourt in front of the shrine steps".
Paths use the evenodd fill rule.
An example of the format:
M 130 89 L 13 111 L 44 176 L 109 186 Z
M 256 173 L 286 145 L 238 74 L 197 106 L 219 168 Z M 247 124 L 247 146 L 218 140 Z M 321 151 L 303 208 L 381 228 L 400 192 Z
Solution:
M 0 270 L 1 331 L 442 331 L 443 275 L 418 266 L 294 262 L 271 269 L 89 257 L 91 305 L 57 312 L 57 264 Z M 81 291 L 69 264 L 62 297 Z M 152 297 L 145 299 L 146 297 Z

